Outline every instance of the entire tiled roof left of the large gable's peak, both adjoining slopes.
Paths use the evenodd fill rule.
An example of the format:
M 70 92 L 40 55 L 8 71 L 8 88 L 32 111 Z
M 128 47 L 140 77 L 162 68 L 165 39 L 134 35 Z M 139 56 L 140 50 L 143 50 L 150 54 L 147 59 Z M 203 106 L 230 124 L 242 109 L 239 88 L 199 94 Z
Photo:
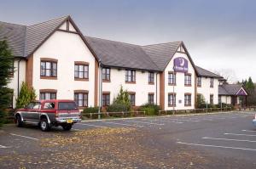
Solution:
M 36 25 L 15 25 L 0 22 L 0 41 L 6 39 L 15 57 L 26 57 L 67 19 L 64 16 Z

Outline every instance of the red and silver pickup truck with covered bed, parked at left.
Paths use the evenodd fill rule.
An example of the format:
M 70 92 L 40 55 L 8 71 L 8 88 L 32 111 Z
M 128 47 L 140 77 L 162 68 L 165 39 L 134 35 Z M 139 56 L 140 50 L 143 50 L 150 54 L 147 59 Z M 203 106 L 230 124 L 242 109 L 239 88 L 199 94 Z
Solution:
M 80 112 L 73 100 L 35 101 L 15 112 L 17 127 L 22 127 L 23 123 L 37 124 L 44 132 L 58 126 L 70 130 L 73 124 L 79 121 Z

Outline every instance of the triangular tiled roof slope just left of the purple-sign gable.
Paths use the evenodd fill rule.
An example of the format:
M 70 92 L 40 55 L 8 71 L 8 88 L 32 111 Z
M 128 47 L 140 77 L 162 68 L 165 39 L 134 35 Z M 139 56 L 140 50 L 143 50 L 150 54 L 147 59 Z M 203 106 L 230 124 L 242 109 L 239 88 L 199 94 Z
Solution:
M 165 70 L 166 65 L 172 59 L 172 56 L 175 54 L 181 43 L 182 42 L 167 42 L 147 45 L 142 48 L 160 70 Z

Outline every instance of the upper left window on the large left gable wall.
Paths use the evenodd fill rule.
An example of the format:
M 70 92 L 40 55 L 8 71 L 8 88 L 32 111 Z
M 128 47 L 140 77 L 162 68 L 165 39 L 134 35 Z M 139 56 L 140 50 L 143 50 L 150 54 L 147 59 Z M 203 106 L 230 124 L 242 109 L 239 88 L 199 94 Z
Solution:
M 40 76 L 56 77 L 57 76 L 57 62 L 41 60 Z

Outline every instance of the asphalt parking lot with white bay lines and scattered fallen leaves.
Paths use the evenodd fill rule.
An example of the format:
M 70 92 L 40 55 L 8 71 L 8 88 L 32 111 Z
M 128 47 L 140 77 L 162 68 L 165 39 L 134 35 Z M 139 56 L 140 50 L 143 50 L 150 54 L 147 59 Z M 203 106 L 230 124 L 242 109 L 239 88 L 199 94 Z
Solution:
M 90 158 L 102 159 L 102 161 L 111 162 L 110 165 L 97 164 L 102 161 L 94 161 L 95 166 L 91 166 L 92 164 L 83 166 L 83 163 L 73 166 L 74 164 L 66 164 L 65 161 L 58 165 L 58 163 L 48 161 L 38 168 L 256 168 L 256 127 L 252 124 L 254 114 L 255 112 L 231 112 L 82 121 L 75 124 L 70 132 L 62 131 L 61 127 L 53 128 L 51 132 L 41 132 L 38 127 L 18 128 L 9 125 L 0 130 L 0 167 L 34 168 L 34 165 L 38 166 L 39 161 L 34 159 L 34 156 L 40 157 L 40 161 L 44 163 L 44 158 L 41 158 L 44 154 L 46 157 L 49 154 L 56 155 L 64 151 L 73 151 L 76 149 L 74 144 L 77 143 L 78 149 L 79 143 L 84 144 L 83 140 L 76 142 L 79 137 L 77 136 L 72 138 L 73 144 L 69 144 L 68 151 L 65 146 L 65 149 L 63 147 L 59 149 L 58 146 L 42 147 L 42 140 L 47 138 L 49 138 L 47 144 L 55 144 L 56 135 L 65 139 L 83 131 L 106 132 L 110 129 L 118 131 L 119 128 L 122 130 L 132 128 L 134 129 L 132 132 L 120 133 L 121 136 L 113 134 L 113 136 L 107 135 L 99 142 L 94 140 L 93 143 L 99 143 L 102 147 L 97 151 L 98 154 L 90 151 L 88 147 L 80 152 L 81 155 L 88 155 L 87 161 L 90 161 Z M 97 139 L 98 135 L 92 138 Z M 121 141 L 115 143 L 119 138 Z M 91 140 L 91 138 L 85 139 Z M 104 140 L 109 143 L 102 144 Z M 111 147 L 112 144 L 114 144 L 113 148 L 108 148 L 108 145 Z M 97 145 L 93 144 L 93 146 Z M 123 156 L 120 154 L 111 153 L 116 149 L 122 151 L 123 156 L 126 152 L 130 155 L 135 151 L 136 155 L 131 157 L 131 161 L 127 157 L 122 160 Z M 132 152 L 129 152 L 130 149 L 133 149 Z M 92 154 L 90 155 L 89 152 Z M 10 161 L 9 157 L 14 157 L 14 155 L 17 155 L 15 161 Z M 32 160 L 28 162 L 27 158 L 21 158 L 22 155 L 27 155 L 27 158 Z M 141 160 L 138 160 L 140 158 Z M 152 164 L 150 161 L 153 161 Z

